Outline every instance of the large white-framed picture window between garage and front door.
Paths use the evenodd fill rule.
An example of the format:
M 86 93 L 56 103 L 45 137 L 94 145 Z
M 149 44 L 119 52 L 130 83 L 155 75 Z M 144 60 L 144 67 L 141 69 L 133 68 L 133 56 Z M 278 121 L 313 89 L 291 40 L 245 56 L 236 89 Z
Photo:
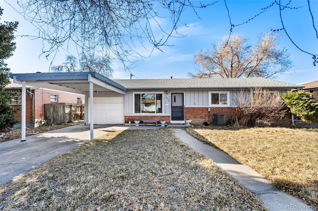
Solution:
M 162 113 L 162 93 L 134 94 L 135 113 Z

